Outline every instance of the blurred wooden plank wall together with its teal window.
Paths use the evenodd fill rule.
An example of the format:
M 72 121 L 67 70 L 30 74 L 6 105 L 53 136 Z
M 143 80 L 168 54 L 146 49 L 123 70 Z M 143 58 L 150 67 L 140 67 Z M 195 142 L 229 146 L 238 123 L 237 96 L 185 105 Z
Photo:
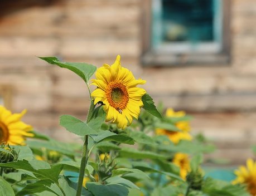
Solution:
M 155 102 L 194 116 L 210 155 L 242 164 L 256 144 L 255 0 L 2 0 L 0 104 L 35 130 L 76 141 L 59 116 L 85 119 L 89 97 L 67 62 L 122 65 Z

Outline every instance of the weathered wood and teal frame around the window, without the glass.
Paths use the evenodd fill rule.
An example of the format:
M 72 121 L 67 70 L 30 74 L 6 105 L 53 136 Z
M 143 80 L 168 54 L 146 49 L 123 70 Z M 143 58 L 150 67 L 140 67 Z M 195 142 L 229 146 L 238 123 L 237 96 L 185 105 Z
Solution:
M 143 0 L 143 7 L 141 60 L 144 66 L 229 65 L 230 0 L 214 1 L 214 40 L 196 44 L 161 43 L 161 0 Z

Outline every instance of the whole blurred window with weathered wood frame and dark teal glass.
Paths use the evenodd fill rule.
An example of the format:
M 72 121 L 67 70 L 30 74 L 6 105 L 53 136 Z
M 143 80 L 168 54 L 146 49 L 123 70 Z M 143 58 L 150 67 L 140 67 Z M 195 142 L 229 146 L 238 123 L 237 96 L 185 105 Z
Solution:
M 145 0 L 144 65 L 229 62 L 229 0 Z

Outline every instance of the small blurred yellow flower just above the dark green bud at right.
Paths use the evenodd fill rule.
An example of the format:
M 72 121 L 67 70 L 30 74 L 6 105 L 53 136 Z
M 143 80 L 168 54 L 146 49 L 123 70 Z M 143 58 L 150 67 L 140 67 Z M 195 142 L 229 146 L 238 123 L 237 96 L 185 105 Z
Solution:
M 189 155 L 176 153 L 172 162 L 180 168 L 180 177 L 185 180 L 187 173 L 190 171 Z

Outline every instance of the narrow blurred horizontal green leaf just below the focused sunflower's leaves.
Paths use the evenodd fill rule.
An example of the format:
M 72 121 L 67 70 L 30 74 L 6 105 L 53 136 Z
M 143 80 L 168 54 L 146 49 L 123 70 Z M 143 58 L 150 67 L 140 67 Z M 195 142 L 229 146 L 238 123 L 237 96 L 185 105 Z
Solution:
M 161 154 L 152 153 L 151 151 L 138 151 L 131 148 L 122 148 L 120 151 L 121 157 L 133 159 L 166 159 L 166 156 Z

